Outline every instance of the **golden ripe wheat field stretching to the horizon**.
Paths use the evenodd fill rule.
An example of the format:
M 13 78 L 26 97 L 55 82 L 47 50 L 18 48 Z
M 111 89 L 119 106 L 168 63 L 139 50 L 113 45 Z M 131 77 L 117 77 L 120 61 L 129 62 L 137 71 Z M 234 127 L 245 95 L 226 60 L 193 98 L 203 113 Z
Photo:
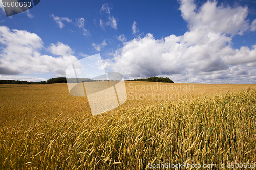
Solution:
M 255 84 L 125 84 L 127 101 L 96 116 L 66 83 L 0 85 L 0 169 L 256 162 Z

